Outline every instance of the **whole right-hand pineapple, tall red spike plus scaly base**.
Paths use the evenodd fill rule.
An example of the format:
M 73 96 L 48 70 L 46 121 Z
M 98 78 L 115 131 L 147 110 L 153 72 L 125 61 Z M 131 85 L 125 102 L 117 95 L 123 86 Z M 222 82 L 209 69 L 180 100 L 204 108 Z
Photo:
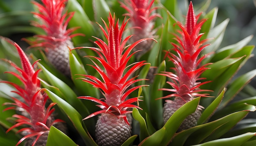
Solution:
M 201 13 L 200 13 L 201 14 Z M 169 77 L 173 82 L 167 82 L 173 88 L 162 88 L 160 90 L 173 92 L 170 95 L 167 95 L 162 98 L 175 97 L 174 100 L 166 100 L 164 104 L 164 122 L 173 115 L 178 108 L 180 108 L 186 102 L 193 100 L 194 97 L 209 97 L 208 94 L 200 93 L 209 90 L 202 90 L 199 87 L 203 84 L 207 84 L 210 81 L 199 82 L 204 78 L 200 78 L 200 75 L 207 69 L 208 64 L 200 64 L 207 55 L 199 57 L 200 52 L 209 44 L 203 45 L 206 40 L 200 41 L 203 33 L 199 33 L 202 24 L 206 21 L 199 19 L 199 15 L 195 15 L 193 10 L 193 4 L 190 2 L 189 10 L 186 15 L 186 24 L 182 25 L 180 22 L 177 22 L 177 25 L 180 27 L 181 37 L 175 35 L 175 40 L 178 44 L 171 43 L 174 46 L 173 51 L 176 54 L 167 52 L 168 58 L 174 64 L 173 72 L 163 72 L 160 75 Z M 198 106 L 195 113 L 189 115 L 181 124 L 178 131 L 182 131 L 188 128 L 191 128 L 197 124 L 197 120 L 201 116 L 202 106 Z

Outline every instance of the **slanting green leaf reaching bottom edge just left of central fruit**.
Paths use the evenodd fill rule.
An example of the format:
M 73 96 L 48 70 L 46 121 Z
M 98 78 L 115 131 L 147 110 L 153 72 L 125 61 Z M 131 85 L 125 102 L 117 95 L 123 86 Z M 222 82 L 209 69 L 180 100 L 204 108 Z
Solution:
M 57 105 L 67 114 L 71 122 L 74 124 L 74 127 L 83 138 L 85 144 L 88 146 L 97 146 L 92 137 L 89 135 L 86 127 L 84 126 L 81 115 L 61 97 L 58 97 L 56 94 L 52 93 L 46 88 L 44 91 L 47 93 L 52 102 L 57 103 Z

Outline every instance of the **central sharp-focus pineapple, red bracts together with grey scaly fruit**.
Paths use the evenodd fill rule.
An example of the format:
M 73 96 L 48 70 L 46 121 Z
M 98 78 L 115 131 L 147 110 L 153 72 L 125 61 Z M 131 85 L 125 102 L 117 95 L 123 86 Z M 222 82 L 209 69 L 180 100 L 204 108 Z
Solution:
M 120 146 L 131 135 L 131 116 L 130 108 L 139 108 L 132 104 L 141 101 L 139 97 L 127 99 L 128 95 L 140 88 L 141 86 L 130 87 L 135 82 L 146 79 L 136 79 L 131 77 L 132 73 L 137 71 L 141 66 L 147 64 L 145 61 L 135 62 L 127 65 L 128 61 L 136 52 L 131 53 L 132 49 L 142 41 L 125 46 L 126 42 L 132 35 L 126 37 L 122 41 L 122 34 L 126 27 L 127 21 L 123 21 L 120 29 L 118 21 L 115 23 L 115 15 L 108 17 L 109 26 L 104 22 L 107 31 L 101 25 L 99 27 L 106 37 L 107 43 L 96 38 L 94 43 L 99 48 L 85 47 L 94 50 L 99 57 L 88 56 L 98 60 L 101 68 L 96 62 L 92 66 L 101 75 L 102 80 L 92 75 L 84 75 L 84 82 L 92 84 L 95 88 L 99 88 L 105 99 L 96 99 L 94 97 L 82 96 L 80 99 L 92 100 L 97 102 L 102 110 L 92 113 L 85 119 L 101 114 L 96 124 L 96 142 L 99 146 Z M 95 38 L 95 37 L 94 37 Z M 131 54 L 130 54 L 131 53 Z M 128 69 L 127 71 L 125 71 Z M 141 108 L 139 108 L 141 109 Z M 128 118 L 127 118 L 128 117 Z

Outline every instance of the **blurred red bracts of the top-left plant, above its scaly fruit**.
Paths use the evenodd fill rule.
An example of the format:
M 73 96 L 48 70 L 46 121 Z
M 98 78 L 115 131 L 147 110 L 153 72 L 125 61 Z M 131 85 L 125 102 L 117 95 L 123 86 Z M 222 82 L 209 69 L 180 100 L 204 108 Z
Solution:
M 46 35 L 36 35 L 37 40 L 35 46 L 43 46 L 46 49 L 51 49 L 56 43 L 65 42 L 74 36 L 82 34 L 72 34 L 78 28 L 67 29 L 67 24 L 73 17 L 74 12 L 63 14 L 65 2 L 67 0 L 41 0 L 43 4 L 33 1 L 32 3 L 38 7 L 39 13 L 32 12 L 36 18 L 42 21 L 42 24 L 37 22 L 32 23 L 35 27 L 42 28 Z M 46 50 L 47 51 L 47 50 Z

